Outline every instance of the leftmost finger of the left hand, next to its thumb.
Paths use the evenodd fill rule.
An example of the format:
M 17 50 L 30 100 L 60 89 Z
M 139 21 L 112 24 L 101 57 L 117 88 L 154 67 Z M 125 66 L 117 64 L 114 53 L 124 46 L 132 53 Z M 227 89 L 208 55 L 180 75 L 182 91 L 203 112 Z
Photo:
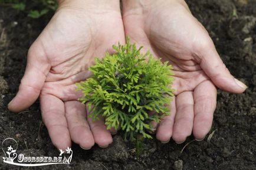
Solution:
M 63 101 L 53 95 L 41 94 L 40 105 L 42 120 L 48 129 L 52 144 L 58 149 L 67 149 L 71 146 L 71 139 Z

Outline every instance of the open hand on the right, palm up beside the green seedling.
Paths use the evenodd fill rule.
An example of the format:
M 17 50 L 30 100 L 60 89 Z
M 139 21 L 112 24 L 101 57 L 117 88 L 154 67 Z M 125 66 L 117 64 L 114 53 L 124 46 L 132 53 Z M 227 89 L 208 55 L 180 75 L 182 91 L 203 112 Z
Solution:
M 123 0 L 125 34 L 157 58 L 173 65 L 175 98 L 156 138 L 178 144 L 191 135 L 204 139 L 212 125 L 216 88 L 242 93 L 247 88 L 225 67 L 212 39 L 185 1 Z

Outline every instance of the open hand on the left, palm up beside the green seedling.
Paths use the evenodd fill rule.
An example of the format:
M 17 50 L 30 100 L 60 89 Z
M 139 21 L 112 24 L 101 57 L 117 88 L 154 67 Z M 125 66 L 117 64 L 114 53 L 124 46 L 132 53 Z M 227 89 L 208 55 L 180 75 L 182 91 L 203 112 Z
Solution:
M 18 94 L 9 103 L 20 112 L 40 96 L 41 113 L 52 143 L 60 149 L 71 140 L 89 149 L 96 142 L 112 142 L 104 119 L 86 121 L 86 108 L 76 82 L 84 81 L 94 57 L 103 57 L 112 45 L 124 42 L 119 0 L 64 0 L 28 51 L 27 68 Z

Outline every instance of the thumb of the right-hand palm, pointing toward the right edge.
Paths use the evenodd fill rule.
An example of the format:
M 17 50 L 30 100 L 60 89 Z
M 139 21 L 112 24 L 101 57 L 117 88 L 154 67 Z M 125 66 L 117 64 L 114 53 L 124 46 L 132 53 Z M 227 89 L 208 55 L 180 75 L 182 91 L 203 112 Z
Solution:
M 218 88 L 235 94 L 244 92 L 247 86 L 230 74 L 219 57 L 214 43 L 211 39 L 209 42 L 210 43 L 208 43 L 208 45 L 206 45 L 200 52 L 201 68 L 205 71 L 206 75 L 211 78 L 212 82 L 218 86 Z

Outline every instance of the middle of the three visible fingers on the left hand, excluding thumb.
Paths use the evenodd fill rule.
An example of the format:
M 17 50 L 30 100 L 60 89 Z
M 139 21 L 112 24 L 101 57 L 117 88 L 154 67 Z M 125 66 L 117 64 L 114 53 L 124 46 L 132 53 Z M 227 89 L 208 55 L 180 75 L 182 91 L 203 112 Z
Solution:
M 94 145 L 93 134 L 86 121 L 86 107 L 78 101 L 65 102 L 65 116 L 72 141 L 83 149 Z

